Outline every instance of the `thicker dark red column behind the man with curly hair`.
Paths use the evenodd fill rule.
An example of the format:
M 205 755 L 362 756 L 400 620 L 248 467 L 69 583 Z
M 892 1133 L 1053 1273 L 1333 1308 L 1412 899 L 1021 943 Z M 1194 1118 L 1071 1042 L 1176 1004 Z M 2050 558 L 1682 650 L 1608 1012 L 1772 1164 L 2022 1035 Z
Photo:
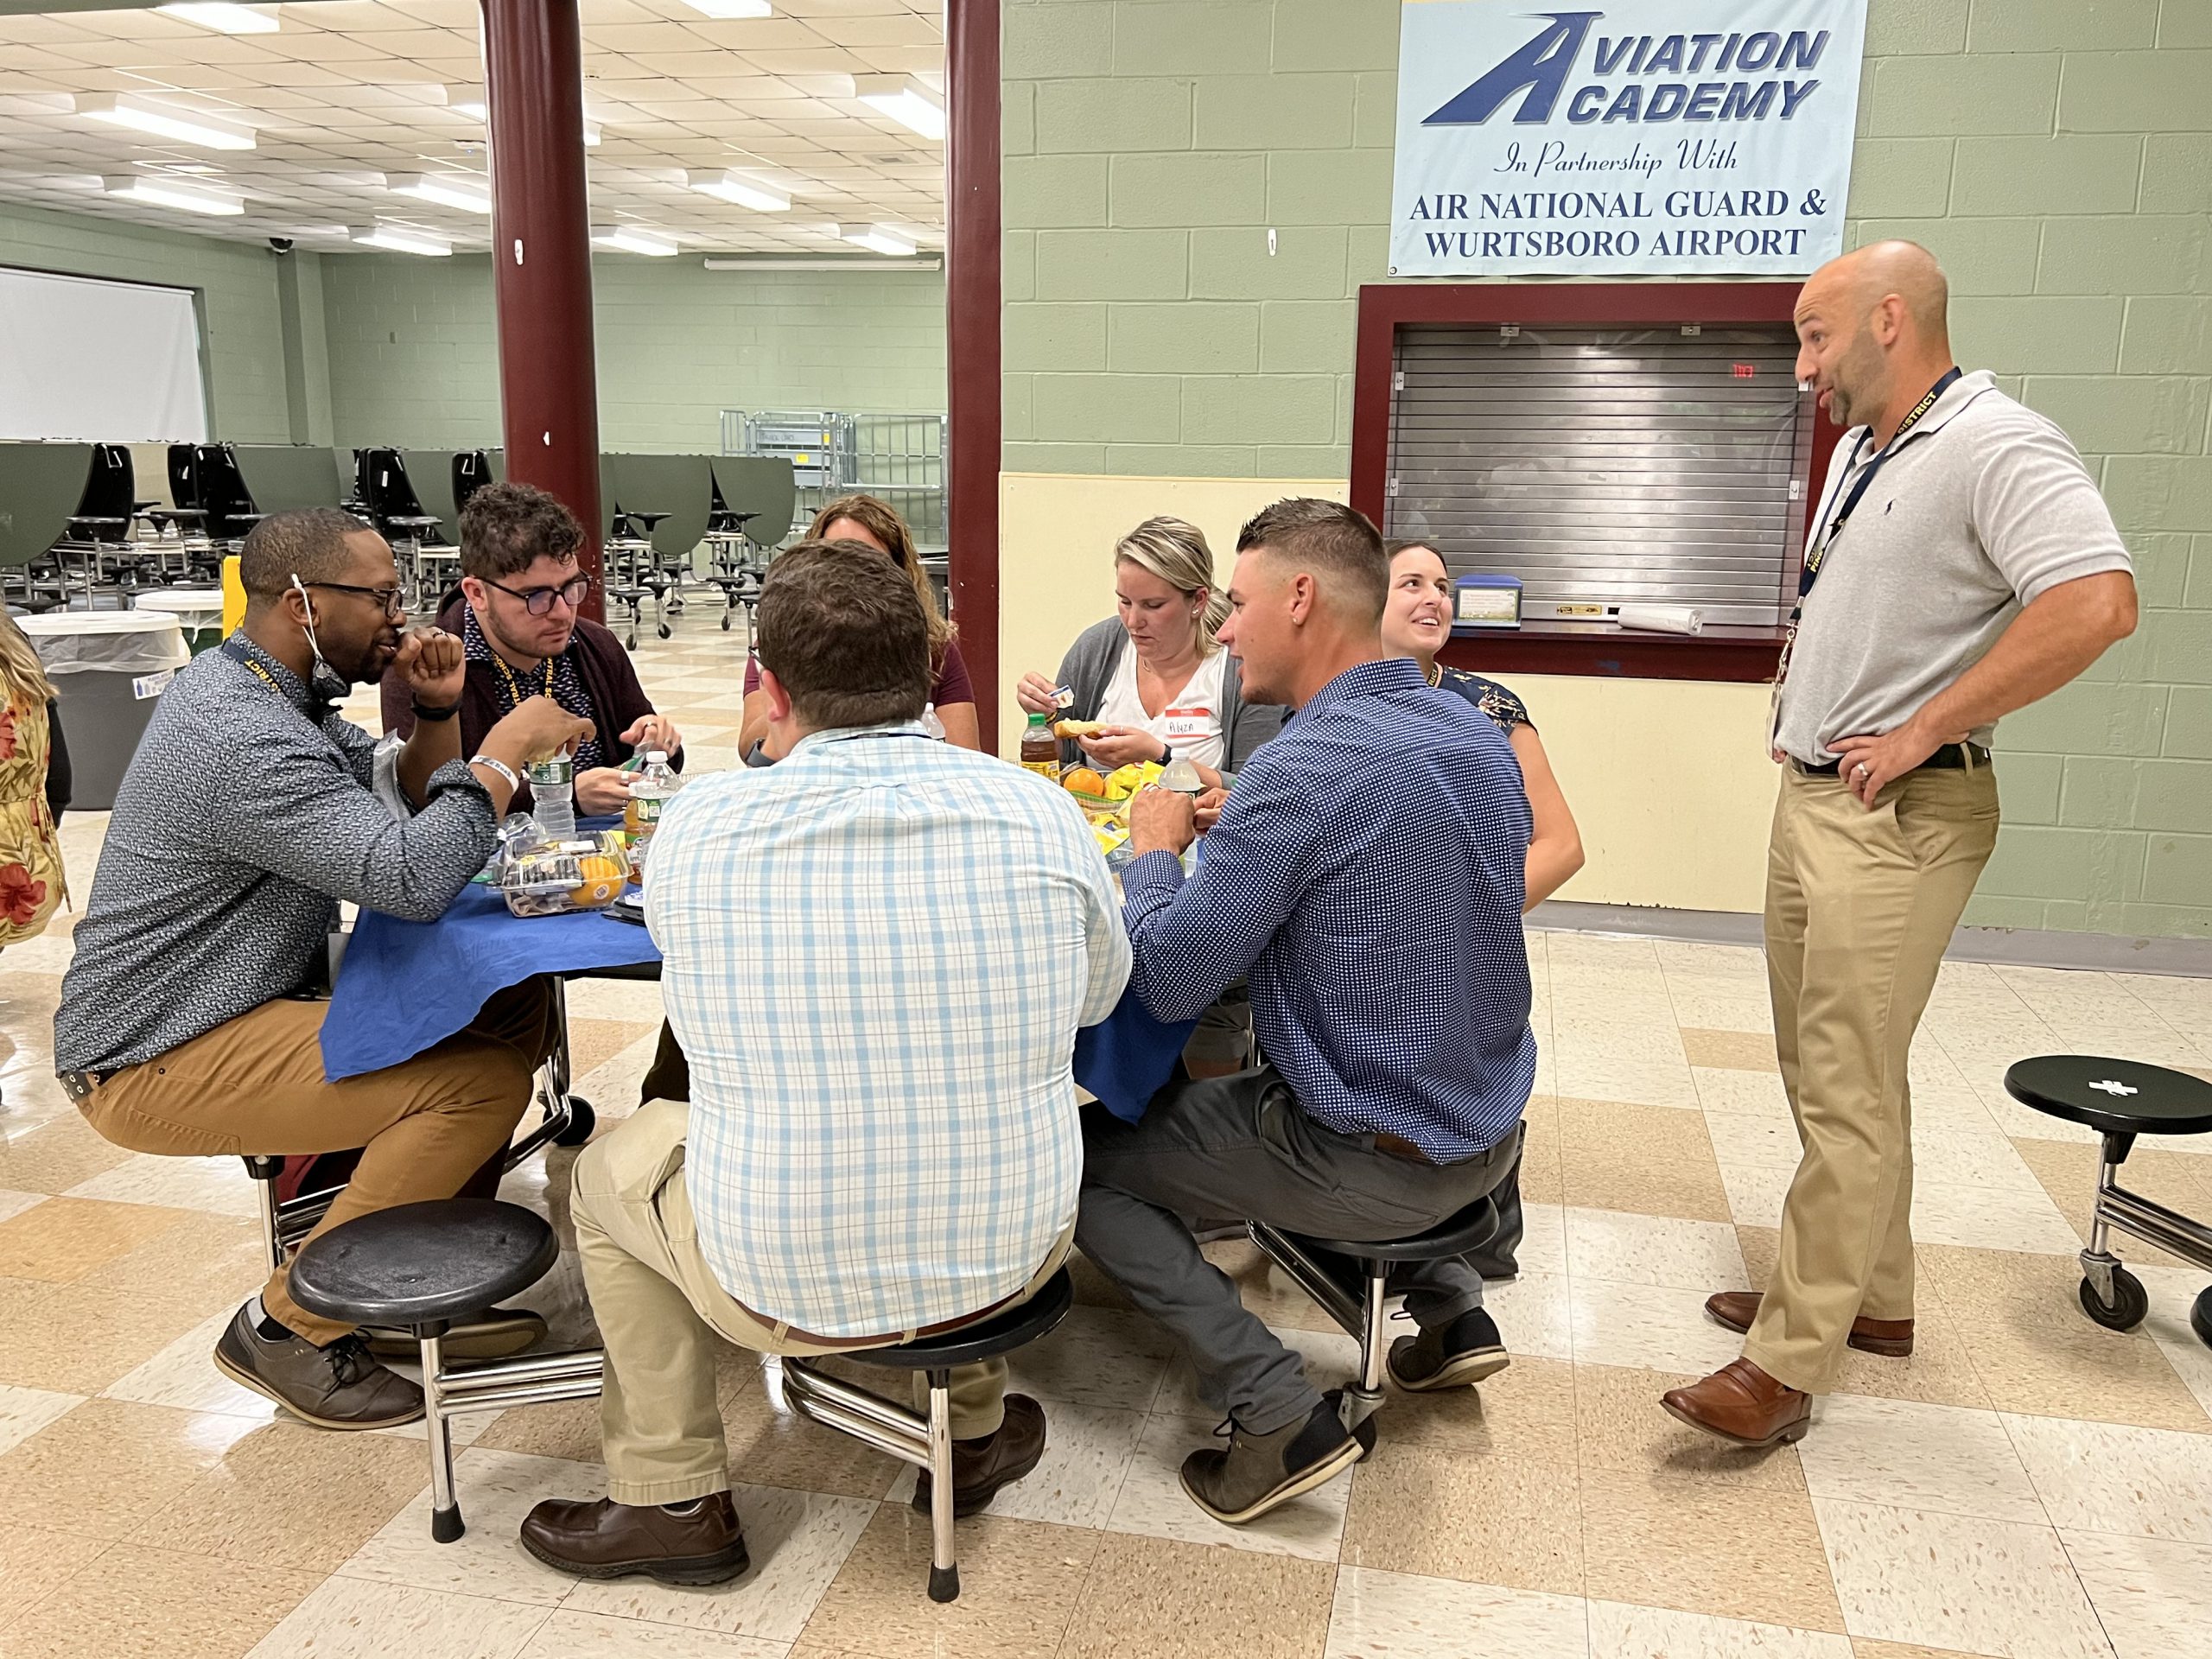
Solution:
M 599 387 L 591 345 L 584 35 L 577 0 L 482 0 L 491 128 L 491 272 L 507 476 L 584 520 L 599 575 Z M 597 591 L 584 604 L 595 619 Z

